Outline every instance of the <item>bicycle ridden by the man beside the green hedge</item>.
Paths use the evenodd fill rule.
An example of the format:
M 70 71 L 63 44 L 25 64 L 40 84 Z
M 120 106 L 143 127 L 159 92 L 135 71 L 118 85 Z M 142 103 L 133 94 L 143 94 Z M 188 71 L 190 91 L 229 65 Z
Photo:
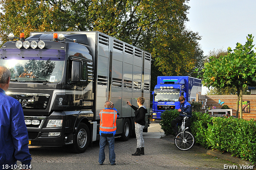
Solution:
M 186 131 L 188 127 L 185 127 L 185 120 L 188 119 L 188 116 L 185 112 L 183 112 L 183 114 L 186 116 L 184 116 L 183 118 L 182 124 L 179 128 L 179 132 L 175 136 L 174 141 L 178 149 L 189 150 L 194 145 L 195 140 L 194 136 L 190 132 Z

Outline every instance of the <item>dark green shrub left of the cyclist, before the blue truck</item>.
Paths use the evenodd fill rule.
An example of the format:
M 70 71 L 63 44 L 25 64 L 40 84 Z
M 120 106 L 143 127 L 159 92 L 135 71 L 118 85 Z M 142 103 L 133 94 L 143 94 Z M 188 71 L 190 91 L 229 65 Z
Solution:
M 161 114 L 162 121 L 159 123 L 161 125 L 161 129 L 164 130 L 164 134 L 173 134 L 172 132 L 172 120 L 178 117 L 180 112 L 175 110 L 166 110 Z

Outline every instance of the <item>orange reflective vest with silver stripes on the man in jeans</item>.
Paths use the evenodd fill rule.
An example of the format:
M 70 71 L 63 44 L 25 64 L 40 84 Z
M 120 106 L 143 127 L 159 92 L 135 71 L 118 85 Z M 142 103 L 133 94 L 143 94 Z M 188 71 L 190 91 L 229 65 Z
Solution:
M 117 112 L 112 109 L 100 110 L 100 130 L 102 132 L 116 131 Z

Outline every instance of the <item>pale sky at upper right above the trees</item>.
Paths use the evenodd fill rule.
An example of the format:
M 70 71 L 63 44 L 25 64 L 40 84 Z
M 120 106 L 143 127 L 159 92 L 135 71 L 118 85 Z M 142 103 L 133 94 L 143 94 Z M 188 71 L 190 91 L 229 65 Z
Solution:
M 234 50 L 237 42 L 245 44 L 248 34 L 256 44 L 256 0 L 190 0 L 188 6 L 186 26 L 201 36 L 204 56 L 214 49 Z M 207 90 L 202 87 L 202 94 Z

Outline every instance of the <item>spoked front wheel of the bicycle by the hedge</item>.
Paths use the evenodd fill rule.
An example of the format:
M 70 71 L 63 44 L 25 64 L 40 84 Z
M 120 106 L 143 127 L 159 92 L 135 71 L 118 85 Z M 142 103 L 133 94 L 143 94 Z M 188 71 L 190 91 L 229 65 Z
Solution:
M 194 145 L 194 136 L 190 132 L 179 132 L 175 137 L 175 145 L 180 150 L 188 150 Z

